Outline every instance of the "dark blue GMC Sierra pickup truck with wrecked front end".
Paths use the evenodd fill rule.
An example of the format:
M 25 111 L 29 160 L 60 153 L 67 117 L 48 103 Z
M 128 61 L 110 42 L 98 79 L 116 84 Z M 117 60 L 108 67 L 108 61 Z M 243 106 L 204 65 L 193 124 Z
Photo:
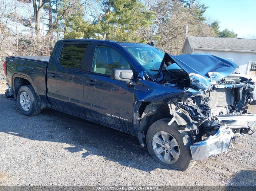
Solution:
M 138 137 L 161 164 L 186 170 L 253 131 L 250 77 L 213 55 L 172 56 L 152 44 L 60 40 L 50 57 L 10 56 L 8 91 L 27 116 L 50 107 Z

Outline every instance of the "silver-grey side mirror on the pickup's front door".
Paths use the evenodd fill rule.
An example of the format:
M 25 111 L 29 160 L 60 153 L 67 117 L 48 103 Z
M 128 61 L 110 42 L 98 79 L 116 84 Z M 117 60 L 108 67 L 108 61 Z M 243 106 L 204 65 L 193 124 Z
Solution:
M 133 81 L 133 72 L 130 69 L 113 69 L 111 70 L 111 79 L 132 82 Z

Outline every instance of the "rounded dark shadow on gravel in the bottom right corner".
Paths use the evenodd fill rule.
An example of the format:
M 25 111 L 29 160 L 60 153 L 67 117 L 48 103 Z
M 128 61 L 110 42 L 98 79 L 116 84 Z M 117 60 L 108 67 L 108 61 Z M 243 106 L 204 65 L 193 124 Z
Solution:
M 243 185 L 243 186 L 240 186 Z M 231 186 L 231 187 L 230 187 Z M 234 186 L 234 187 L 233 187 Z M 256 186 L 256 171 L 241 170 L 228 183 L 227 191 L 234 190 L 255 190 Z M 239 188 L 239 189 L 238 189 Z

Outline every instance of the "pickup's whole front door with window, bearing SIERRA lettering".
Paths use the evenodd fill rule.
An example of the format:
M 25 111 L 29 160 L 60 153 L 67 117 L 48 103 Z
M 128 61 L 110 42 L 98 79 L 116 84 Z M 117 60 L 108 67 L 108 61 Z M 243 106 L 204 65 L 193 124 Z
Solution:
M 84 91 L 90 89 L 89 97 L 84 95 L 86 113 L 92 119 L 133 131 L 133 91 L 124 81 L 110 78 L 114 68 L 129 69 L 130 63 L 121 52 L 108 46 L 95 46 L 91 50 L 90 72 L 85 73 Z

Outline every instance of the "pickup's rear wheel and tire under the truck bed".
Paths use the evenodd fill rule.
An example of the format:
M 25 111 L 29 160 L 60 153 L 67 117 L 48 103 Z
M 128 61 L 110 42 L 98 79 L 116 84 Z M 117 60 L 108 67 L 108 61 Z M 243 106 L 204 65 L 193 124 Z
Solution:
M 21 101 L 21 97 L 22 99 L 25 98 L 24 95 L 27 99 L 25 101 L 24 100 Z M 26 107 L 24 103 L 25 105 L 28 105 L 28 106 Z M 20 87 L 17 95 L 17 104 L 21 112 L 26 116 L 35 116 L 41 112 L 41 108 L 39 106 L 39 103 L 32 85 L 25 85 Z

